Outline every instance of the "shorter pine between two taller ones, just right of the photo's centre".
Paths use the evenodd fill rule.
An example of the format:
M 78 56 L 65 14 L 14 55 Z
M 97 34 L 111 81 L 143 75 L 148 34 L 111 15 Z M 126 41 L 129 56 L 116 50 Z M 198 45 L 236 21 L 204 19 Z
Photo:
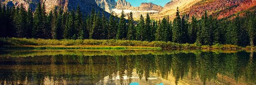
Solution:
M 137 31 L 136 31 L 136 40 L 144 41 L 145 40 L 145 21 L 142 14 L 140 15 L 140 21 L 137 24 Z

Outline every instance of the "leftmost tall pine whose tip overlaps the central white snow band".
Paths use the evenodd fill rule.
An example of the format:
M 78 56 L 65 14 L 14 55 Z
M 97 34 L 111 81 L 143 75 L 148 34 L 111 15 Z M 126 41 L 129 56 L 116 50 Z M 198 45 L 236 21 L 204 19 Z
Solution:
M 121 17 L 119 19 L 116 39 L 123 40 L 127 36 L 126 23 L 125 23 L 125 12 L 122 10 Z

